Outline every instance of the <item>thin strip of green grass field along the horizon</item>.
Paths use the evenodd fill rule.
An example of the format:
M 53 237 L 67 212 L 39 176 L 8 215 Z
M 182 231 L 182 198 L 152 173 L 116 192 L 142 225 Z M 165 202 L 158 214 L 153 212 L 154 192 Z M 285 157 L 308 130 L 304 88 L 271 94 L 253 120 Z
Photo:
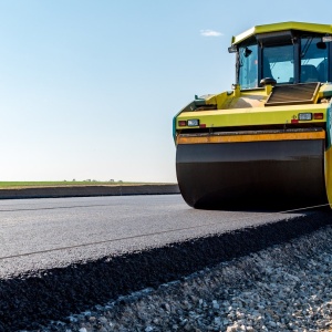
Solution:
M 118 185 L 147 185 L 146 183 L 125 181 L 0 181 L 0 189 L 31 188 L 31 187 L 63 187 L 63 186 L 118 186 Z

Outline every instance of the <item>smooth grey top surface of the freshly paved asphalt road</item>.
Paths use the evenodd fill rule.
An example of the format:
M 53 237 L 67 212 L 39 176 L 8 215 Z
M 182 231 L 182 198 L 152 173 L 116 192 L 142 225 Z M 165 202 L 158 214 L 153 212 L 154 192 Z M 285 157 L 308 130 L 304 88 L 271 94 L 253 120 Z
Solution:
M 0 200 L 0 277 L 163 247 L 301 214 L 196 210 L 180 195 Z

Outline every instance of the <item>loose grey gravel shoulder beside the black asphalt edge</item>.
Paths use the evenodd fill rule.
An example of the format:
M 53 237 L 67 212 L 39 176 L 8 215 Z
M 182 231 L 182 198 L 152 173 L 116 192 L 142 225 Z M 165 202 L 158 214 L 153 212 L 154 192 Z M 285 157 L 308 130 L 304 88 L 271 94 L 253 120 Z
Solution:
M 332 227 L 95 305 L 39 331 L 329 331 Z

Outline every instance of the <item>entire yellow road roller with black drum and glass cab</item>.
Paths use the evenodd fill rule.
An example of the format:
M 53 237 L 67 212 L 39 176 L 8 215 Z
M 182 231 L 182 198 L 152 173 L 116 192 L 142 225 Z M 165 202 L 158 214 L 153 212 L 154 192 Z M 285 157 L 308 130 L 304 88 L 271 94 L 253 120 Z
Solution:
M 229 91 L 173 120 L 176 174 L 200 209 L 331 208 L 332 25 L 281 22 L 232 37 Z

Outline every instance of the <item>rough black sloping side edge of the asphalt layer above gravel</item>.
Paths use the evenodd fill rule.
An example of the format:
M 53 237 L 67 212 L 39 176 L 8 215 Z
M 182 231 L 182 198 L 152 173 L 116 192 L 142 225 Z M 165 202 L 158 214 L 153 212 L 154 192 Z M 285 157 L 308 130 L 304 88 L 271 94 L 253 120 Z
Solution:
M 0 331 L 38 330 L 120 294 L 176 280 L 331 224 L 330 211 L 188 239 L 162 248 L 103 257 L 66 268 L 0 280 Z

